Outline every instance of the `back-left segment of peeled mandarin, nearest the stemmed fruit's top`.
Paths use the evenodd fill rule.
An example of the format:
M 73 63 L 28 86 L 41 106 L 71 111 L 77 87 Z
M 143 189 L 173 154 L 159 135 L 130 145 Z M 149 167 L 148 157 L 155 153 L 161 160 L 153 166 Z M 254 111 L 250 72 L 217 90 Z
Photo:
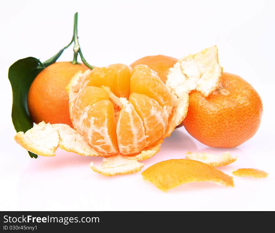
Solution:
M 83 79 L 80 89 L 86 86 L 108 86 L 113 92 L 113 83 L 116 76 L 117 72 L 112 67 L 95 67 L 92 72 Z

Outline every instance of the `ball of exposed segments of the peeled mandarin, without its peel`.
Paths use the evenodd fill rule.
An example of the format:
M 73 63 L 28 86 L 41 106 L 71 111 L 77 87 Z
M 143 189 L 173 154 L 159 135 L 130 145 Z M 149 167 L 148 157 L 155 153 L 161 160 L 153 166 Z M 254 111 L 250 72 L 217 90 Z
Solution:
M 165 133 L 173 99 L 148 67 L 96 67 L 82 78 L 71 108 L 74 128 L 102 156 L 135 155 Z M 158 142 L 159 143 L 159 142 Z

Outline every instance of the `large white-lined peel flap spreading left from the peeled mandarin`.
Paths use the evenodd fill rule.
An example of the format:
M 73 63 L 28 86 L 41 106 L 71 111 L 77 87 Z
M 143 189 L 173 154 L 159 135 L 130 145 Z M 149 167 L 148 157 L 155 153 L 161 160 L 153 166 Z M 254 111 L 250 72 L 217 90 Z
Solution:
M 58 147 L 83 156 L 99 156 L 83 136 L 66 124 L 42 121 L 25 133 L 18 132 L 14 139 L 26 150 L 41 156 L 55 156 Z

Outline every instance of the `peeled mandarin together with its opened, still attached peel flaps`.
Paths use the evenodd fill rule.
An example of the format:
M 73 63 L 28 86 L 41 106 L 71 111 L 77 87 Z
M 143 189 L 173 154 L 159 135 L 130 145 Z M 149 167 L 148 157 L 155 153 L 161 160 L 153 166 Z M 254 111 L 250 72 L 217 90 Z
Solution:
M 104 175 L 133 173 L 141 167 L 138 161 L 154 156 L 163 139 L 183 121 L 188 93 L 196 89 L 209 95 L 221 73 L 216 46 L 179 60 L 170 68 L 166 84 L 145 65 L 137 65 L 133 71 L 123 64 L 79 71 L 66 87 L 74 129 L 41 122 L 25 133 L 18 132 L 15 140 L 42 156 L 54 156 L 60 147 L 85 156 L 112 157 L 114 161 L 131 157 L 133 166 L 118 163 L 116 168 L 113 163 L 107 167 L 110 163 L 106 159 L 102 168 L 92 168 Z M 156 130 L 150 126 L 157 126 Z

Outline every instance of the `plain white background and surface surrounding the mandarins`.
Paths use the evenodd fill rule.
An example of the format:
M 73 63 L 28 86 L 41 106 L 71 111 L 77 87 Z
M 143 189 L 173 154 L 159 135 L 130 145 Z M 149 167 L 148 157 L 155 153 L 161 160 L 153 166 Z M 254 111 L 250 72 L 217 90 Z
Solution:
M 273 1 L 5 1 L 0 14 L 0 209 L 1 210 L 275 210 L 274 188 L 274 5 Z M 20 58 L 47 60 L 71 40 L 78 11 L 84 57 L 96 66 L 130 64 L 140 57 L 183 57 L 217 45 L 224 71 L 246 79 L 262 97 L 256 135 L 229 149 L 238 160 L 221 170 L 254 167 L 267 179 L 234 177 L 235 188 L 193 183 L 164 193 L 140 172 L 105 177 L 88 166 L 90 158 L 58 151 L 31 159 L 13 140 L 12 90 L 8 67 Z M 59 61 L 73 58 L 72 47 Z M 182 127 L 161 151 L 144 161 L 183 158 L 186 151 L 221 154 Z

